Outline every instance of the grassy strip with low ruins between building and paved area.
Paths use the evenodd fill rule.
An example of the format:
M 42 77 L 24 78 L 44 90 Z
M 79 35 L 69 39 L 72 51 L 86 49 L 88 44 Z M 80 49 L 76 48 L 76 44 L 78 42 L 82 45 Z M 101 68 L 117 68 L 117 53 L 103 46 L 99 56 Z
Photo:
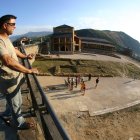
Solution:
M 33 63 L 41 73 L 91 73 L 92 76 L 127 76 L 140 79 L 140 68 L 132 63 L 74 59 L 39 59 Z M 58 71 L 59 68 L 59 71 Z

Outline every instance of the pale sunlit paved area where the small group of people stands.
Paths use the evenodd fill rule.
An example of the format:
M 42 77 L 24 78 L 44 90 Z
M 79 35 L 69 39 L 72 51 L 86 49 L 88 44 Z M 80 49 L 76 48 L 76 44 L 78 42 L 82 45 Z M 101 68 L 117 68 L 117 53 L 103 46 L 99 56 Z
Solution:
M 80 85 L 69 91 L 64 87 L 65 79 L 66 77 L 38 76 L 42 87 L 50 88 L 46 95 L 54 110 L 60 114 L 89 111 L 90 116 L 94 116 L 140 103 L 140 80 L 101 77 L 95 89 L 95 77 L 92 77 L 91 81 L 87 81 L 85 77 L 86 93 L 82 96 Z

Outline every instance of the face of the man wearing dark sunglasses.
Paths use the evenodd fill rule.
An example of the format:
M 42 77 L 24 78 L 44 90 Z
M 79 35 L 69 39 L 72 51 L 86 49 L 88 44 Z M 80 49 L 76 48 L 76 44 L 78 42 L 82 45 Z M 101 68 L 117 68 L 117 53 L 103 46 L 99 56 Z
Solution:
M 7 23 L 4 23 L 4 27 L 8 35 L 13 34 L 16 28 L 16 19 L 10 19 Z

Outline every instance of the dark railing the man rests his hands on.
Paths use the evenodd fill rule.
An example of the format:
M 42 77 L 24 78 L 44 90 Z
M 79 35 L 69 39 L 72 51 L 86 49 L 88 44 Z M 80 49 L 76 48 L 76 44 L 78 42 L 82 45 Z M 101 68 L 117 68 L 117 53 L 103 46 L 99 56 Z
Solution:
M 25 50 L 23 49 L 22 46 L 20 47 L 20 51 L 21 51 L 23 54 L 26 54 L 26 52 L 25 52 Z M 25 59 L 25 60 L 23 61 L 23 63 L 24 63 L 24 65 L 26 65 L 26 66 L 28 65 L 28 66 L 27 66 L 28 68 L 31 68 L 31 65 L 30 65 L 30 63 L 29 63 L 29 61 L 28 61 L 27 59 Z M 29 75 L 26 75 L 26 76 L 27 76 L 28 81 L 29 81 Z M 35 74 L 32 74 L 32 75 L 30 75 L 30 76 L 32 76 L 32 80 L 34 80 L 34 82 L 35 82 L 35 84 L 36 84 L 36 88 L 38 88 L 39 94 L 41 95 L 42 103 L 43 103 L 43 105 L 46 107 L 46 110 L 44 110 L 44 111 L 47 112 L 47 115 L 48 115 L 48 114 L 50 115 L 50 117 L 45 117 L 45 116 L 43 116 L 42 112 L 39 111 L 39 116 L 40 116 L 40 117 L 38 117 L 38 115 L 36 115 L 37 118 L 39 119 L 40 122 L 42 121 L 43 118 L 45 118 L 45 120 L 46 120 L 47 118 L 52 119 L 53 122 L 54 122 L 54 125 L 55 125 L 55 127 L 57 128 L 57 131 L 58 131 L 58 132 L 56 132 L 56 131 L 55 131 L 55 132 L 56 132 L 57 134 L 59 133 L 59 135 L 61 136 L 61 138 L 59 137 L 59 139 L 70 140 L 69 135 L 67 134 L 67 132 L 66 132 L 65 129 L 63 128 L 62 124 L 60 123 L 60 121 L 59 121 L 57 115 L 55 114 L 55 111 L 54 111 L 53 107 L 51 106 L 51 104 L 50 104 L 50 102 L 49 102 L 49 100 L 48 100 L 47 95 L 44 93 L 43 89 L 41 88 L 41 86 L 40 86 L 40 84 L 39 84 L 39 82 L 38 82 L 38 80 L 37 80 Z M 30 81 L 29 81 L 28 83 L 30 83 Z M 33 89 L 32 89 L 31 83 L 30 83 L 30 85 L 28 85 L 28 86 L 30 87 L 30 90 L 31 90 L 31 92 L 32 92 L 31 98 L 32 98 L 32 100 L 34 100 L 34 99 L 36 98 L 36 96 L 35 96 L 35 93 L 33 93 Z M 34 97 L 32 97 L 32 96 L 34 96 Z M 39 109 L 39 104 L 37 103 L 38 101 L 36 101 L 36 99 L 35 99 L 35 101 L 32 101 L 32 102 L 33 102 L 33 103 L 35 102 L 35 104 L 37 105 L 37 107 L 36 107 L 36 105 L 33 105 L 33 106 L 35 106 L 34 109 L 35 109 L 35 110 L 38 110 L 38 109 Z M 41 120 L 40 120 L 40 119 L 41 119 Z M 44 120 L 44 122 L 45 122 L 45 120 Z M 44 123 L 44 122 L 43 122 L 43 123 Z M 44 126 L 44 124 L 41 124 L 41 125 Z M 45 122 L 45 126 L 47 126 L 47 125 L 48 125 L 48 124 L 46 124 L 46 122 Z M 43 129 L 44 129 L 44 128 L 43 128 Z M 49 129 L 50 129 L 50 126 L 49 126 Z M 48 128 L 47 128 L 46 130 L 48 131 Z M 43 130 L 43 131 L 45 131 L 45 130 Z M 53 131 L 53 130 L 50 130 L 50 131 Z M 54 133 L 55 133 L 55 132 L 54 132 Z M 44 134 L 45 134 L 45 133 L 48 133 L 48 132 L 44 132 Z M 56 136 L 54 137 L 54 136 L 53 136 L 52 134 L 50 134 L 50 133 L 51 133 L 51 132 L 49 132 L 49 136 L 51 136 L 51 139 L 55 139 Z M 46 138 L 46 139 L 48 139 L 48 138 Z M 57 139 L 57 140 L 59 140 L 59 139 Z

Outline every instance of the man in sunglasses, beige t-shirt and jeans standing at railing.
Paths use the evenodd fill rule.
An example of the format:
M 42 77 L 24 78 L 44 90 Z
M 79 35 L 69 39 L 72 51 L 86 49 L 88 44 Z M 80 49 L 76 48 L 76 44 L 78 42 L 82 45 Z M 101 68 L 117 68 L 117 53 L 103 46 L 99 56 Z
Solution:
M 22 97 L 20 86 L 23 74 L 38 73 L 37 69 L 28 69 L 21 65 L 19 58 L 32 59 L 32 55 L 24 55 L 14 48 L 9 35 L 13 34 L 16 28 L 16 17 L 4 15 L 0 18 L 0 93 L 4 94 L 7 100 L 7 110 L 10 109 L 12 119 L 18 129 L 29 129 L 32 123 L 27 123 L 21 114 Z

